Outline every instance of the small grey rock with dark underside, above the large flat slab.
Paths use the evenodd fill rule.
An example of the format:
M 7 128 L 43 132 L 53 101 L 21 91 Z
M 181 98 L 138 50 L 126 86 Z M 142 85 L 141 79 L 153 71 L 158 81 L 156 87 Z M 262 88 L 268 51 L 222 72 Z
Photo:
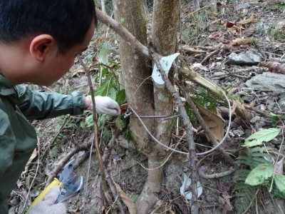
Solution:
M 246 51 L 240 54 L 232 53 L 227 56 L 227 65 L 237 66 L 254 66 L 262 61 L 262 56 L 251 51 Z

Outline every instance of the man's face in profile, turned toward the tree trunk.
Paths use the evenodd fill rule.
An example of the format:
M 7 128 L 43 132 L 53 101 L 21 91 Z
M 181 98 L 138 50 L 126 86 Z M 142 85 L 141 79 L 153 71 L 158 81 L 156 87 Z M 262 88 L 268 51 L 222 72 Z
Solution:
M 50 63 L 47 63 L 43 69 L 44 71 L 41 72 L 41 76 L 37 77 L 37 84 L 50 86 L 55 81 L 58 81 L 58 79 L 61 78 L 65 73 L 67 73 L 69 68 L 73 66 L 76 56 L 87 49 L 88 44 L 93 36 L 94 29 L 94 24 L 91 24 L 90 29 L 86 34 L 86 39 L 82 44 L 73 46 L 66 52 L 66 54 L 58 54 L 57 56 L 51 58 Z

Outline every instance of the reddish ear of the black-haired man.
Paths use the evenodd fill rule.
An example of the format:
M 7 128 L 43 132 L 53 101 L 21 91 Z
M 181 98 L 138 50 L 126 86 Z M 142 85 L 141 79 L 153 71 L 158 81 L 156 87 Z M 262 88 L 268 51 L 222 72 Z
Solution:
M 36 61 L 44 61 L 48 54 L 56 54 L 58 51 L 53 36 L 41 34 L 34 37 L 30 44 L 30 53 Z

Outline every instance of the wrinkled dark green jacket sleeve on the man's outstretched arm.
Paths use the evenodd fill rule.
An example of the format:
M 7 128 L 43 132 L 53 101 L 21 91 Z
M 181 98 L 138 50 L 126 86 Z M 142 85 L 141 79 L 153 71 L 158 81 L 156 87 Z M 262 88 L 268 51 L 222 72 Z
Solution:
M 27 86 L 16 86 L 19 96 L 18 106 L 27 119 L 46 119 L 66 114 L 83 113 L 85 99 L 81 92 L 74 91 L 71 95 L 61 93 L 33 91 Z

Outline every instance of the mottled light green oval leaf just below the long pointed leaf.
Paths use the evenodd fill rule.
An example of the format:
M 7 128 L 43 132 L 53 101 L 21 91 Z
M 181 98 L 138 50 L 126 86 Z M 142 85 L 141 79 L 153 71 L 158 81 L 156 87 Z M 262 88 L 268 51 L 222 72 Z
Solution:
M 274 165 L 271 163 L 261 163 L 254 168 L 249 175 L 247 175 L 247 179 L 245 183 L 249 185 L 259 185 L 264 183 L 264 180 L 270 178 L 274 173 Z

